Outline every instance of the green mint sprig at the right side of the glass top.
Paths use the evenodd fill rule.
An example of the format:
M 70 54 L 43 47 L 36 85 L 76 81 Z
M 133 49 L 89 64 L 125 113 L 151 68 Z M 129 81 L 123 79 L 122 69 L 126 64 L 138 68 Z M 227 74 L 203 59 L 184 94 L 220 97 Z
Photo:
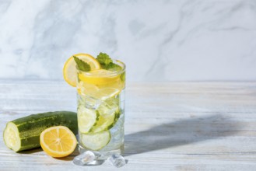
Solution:
M 100 52 L 100 54 L 98 54 L 96 60 L 99 61 L 100 66 L 103 69 L 113 71 L 113 72 L 121 71 L 121 66 L 114 64 L 113 60 L 110 58 L 110 56 L 108 54 L 104 54 L 104 53 Z

